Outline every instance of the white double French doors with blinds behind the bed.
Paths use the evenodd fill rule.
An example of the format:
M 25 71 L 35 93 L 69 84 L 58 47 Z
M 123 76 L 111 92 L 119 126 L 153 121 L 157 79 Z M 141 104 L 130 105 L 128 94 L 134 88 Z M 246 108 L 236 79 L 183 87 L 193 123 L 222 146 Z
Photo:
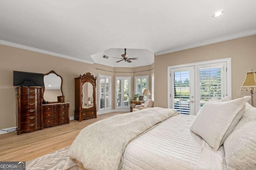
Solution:
M 168 108 L 174 108 L 183 114 L 196 115 L 208 100 L 214 97 L 220 99 L 226 95 L 231 97 L 231 79 L 227 78 L 227 62 L 200 62 L 191 65 L 170 68 Z

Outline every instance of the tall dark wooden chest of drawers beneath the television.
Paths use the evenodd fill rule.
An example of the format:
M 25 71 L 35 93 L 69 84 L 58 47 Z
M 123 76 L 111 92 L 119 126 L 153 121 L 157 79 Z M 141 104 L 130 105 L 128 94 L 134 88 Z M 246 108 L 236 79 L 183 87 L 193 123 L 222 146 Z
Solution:
M 42 88 L 18 87 L 18 135 L 44 129 L 42 122 Z

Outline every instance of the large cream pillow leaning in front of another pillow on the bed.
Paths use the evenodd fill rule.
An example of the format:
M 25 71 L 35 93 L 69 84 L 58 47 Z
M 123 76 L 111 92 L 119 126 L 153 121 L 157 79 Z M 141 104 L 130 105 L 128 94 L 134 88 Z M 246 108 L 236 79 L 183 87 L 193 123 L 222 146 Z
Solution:
M 241 119 L 250 96 L 222 102 L 213 98 L 198 112 L 190 130 L 217 151 Z

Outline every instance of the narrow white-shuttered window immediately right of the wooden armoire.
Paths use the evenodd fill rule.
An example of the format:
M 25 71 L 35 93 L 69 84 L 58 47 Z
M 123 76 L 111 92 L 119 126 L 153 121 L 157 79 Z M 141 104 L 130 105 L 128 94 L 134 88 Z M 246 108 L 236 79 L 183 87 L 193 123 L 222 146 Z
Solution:
M 111 109 L 111 76 L 98 74 L 98 110 Z

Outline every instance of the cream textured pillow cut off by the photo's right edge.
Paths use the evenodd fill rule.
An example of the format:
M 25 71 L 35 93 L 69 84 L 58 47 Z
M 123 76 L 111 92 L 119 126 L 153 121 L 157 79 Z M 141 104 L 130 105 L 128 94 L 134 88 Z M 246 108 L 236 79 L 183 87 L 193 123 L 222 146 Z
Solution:
M 227 169 L 256 169 L 256 108 L 246 104 L 246 111 L 224 142 Z

